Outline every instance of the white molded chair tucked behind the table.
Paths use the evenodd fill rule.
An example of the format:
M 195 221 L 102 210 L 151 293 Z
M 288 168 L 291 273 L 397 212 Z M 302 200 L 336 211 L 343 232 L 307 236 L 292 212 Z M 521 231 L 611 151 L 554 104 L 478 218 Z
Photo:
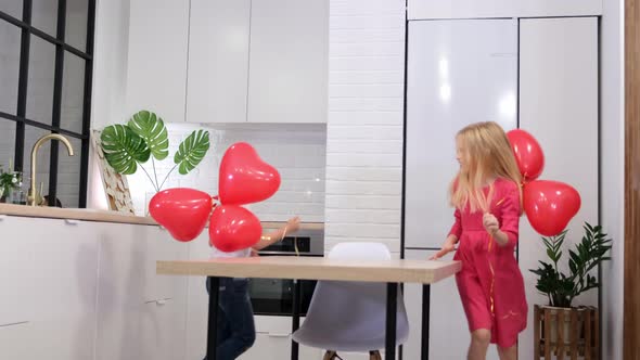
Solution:
M 341 243 L 330 259 L 388 260 L 381 243 Z M 402 295 L 398 292 L 396 345 L 407 340 L 409 323 Z M 309 310 L 293 338 L 307 346 L 335 351 L 384 349 L 386 283 L 319 281 Z

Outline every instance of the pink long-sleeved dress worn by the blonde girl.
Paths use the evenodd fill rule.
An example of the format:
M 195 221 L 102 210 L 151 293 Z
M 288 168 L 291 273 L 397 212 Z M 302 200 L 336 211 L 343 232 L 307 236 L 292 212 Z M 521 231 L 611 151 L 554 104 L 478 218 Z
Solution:
M 456 223 L 449 234 L 460 240 L 453 259 L 462 261 L 462 270 L 456 274 L 456 283 L 469 330 L 490 330 L 491 343 L 508 348 L 515 345 L 517 334 L 526 327 L 528 308 L 514 253 L 520 192 L 517 185 L 507 179 L 497 179 L 494 189 L 490 213 L 498 219 L 509 243 L 498 245 L 483 226 L 483 213 L 472 214 L 469 207 L 456 210 Z

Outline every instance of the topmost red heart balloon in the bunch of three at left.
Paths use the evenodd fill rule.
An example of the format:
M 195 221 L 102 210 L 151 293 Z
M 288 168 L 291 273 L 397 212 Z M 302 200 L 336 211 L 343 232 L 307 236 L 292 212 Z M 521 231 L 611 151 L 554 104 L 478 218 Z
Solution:
M 280 188 L 280 173 L 263 162 L 246 142 L 231 145 L 220 163 L 218 192 L 223 205 L 242 205 L 269 198 Z

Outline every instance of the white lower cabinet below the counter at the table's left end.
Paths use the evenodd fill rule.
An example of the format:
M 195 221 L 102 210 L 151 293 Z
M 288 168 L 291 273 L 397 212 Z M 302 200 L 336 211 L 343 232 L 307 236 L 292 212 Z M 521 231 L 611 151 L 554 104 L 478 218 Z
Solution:
M 187 277 L 158 277 L 155 261 L 187 258 L 188 244 L 175 245 L 157 227 L 104 223 L 98 236 L 95 359 L 180 358 Z

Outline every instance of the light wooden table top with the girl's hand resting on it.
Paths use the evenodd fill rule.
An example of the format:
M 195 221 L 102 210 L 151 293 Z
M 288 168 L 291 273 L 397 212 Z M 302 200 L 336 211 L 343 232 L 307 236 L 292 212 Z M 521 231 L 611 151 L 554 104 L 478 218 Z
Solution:
M 325 257 L 266 256 L 157 261 L 166 275 L 274 278 L 431 284 L 460 271 L 460 261 L 338 260 Z

